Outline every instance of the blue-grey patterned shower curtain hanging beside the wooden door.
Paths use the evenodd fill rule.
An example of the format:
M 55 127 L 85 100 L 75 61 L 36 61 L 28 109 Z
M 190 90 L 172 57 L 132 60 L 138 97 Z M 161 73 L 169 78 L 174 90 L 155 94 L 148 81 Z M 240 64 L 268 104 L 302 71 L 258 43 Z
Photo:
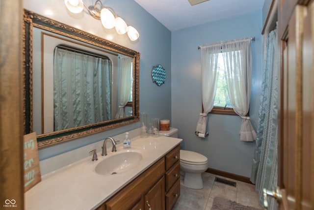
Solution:
M 250 179 L 256 184 L 261 206 L 263 188 L 275 190 L 277 186 L 278 77 L 279 46 L 277 30 L 273 30 L 266 39 L 256 149 Z M 277 209 L 274 199 L 268 198 L 268 209 Z

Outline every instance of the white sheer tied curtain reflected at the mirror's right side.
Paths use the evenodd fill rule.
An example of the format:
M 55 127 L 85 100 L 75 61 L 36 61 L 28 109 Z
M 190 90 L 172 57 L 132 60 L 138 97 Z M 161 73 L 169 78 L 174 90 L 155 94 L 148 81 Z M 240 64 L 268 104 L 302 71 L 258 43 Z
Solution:
M 131 71 L 132 71 L 132 58 L 123 56 L 120 60 L 120 97 L 119 109 L 116 114 L 116 119 L 125 117 L 125 106 L 128 103 L 131 93 Z

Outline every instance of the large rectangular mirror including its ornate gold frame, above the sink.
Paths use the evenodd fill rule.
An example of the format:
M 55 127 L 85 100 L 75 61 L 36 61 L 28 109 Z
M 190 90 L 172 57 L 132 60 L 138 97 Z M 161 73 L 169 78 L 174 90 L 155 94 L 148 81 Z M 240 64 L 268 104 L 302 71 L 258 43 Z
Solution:
M 36 132 L 43 148 L 138 121 L 139 59 L 139 52 L 25 10 L 25 134 Z

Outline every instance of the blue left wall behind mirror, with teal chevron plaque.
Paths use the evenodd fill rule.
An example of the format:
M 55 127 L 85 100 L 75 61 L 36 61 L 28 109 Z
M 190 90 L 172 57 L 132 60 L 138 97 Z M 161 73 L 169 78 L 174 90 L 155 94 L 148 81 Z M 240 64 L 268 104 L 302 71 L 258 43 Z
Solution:
M 84 2 L 87 5 L 92 5 L 95 0 L 84 0 Z M 102 2 L 106 6 L 112 7 L 128 24 L 138 30 L 140 37 L 137 41 L 130 41 L 126 34 L 119 35 L 114 29 L 106 30 L 101 22 L 92 18 L 86 10 L 80 14 L 71 14 L 67 11 L 63 0 L 24 0 L 24 8 L 140 52 L 139 109 L 141 112 L 147 112 L 149 118 L 171 120 L 171 32 L 133 0 L 106 0 Z M 151 76 L 152 68 L 157 64 L 161 64 L 166 70 L 165 84 L 160 87 L 152 82 Z M 39 159 L 43 160 L 69 150 L 74 150 L 138 126 L 139 123 L 133 123 L 44 148 L 39 150 Z

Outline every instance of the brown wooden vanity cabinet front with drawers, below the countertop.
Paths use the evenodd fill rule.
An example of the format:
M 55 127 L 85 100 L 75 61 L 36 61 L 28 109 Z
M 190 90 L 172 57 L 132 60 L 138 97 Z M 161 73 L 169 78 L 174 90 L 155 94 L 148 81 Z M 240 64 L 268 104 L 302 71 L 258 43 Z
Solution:
M 179 160 L 176 146 L 97 210 L 163 210 L 165 203 L 171 210 L 180 196 Z

